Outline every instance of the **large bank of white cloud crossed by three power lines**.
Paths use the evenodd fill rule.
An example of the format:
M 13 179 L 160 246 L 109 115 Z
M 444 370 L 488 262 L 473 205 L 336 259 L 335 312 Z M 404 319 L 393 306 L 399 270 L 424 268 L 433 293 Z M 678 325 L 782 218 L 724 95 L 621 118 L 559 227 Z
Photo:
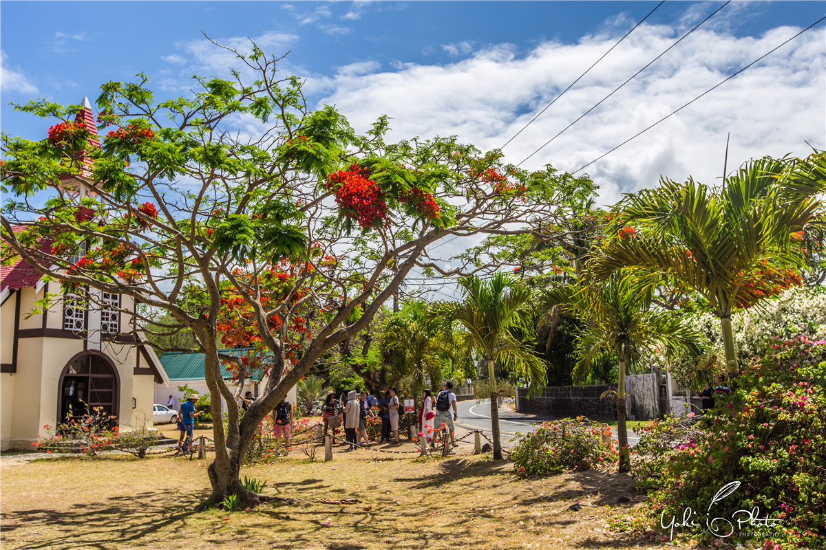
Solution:
M 715 17 L 720 16 L 723 12 Z M 725 31 L 721 19 L 713 28 L 700 27 L 523 166 L 551 163 L 577 170 L 800 31 L 778 27 L 738 38 Z M 512 45 L 495 45 L 445 65 L 394 62 L 396 70 L 386 73 L 377 67 L 354 70 L 354 63 L 334 77 L 309 78 L 307 91 L 322 96 L 319 103 L 338 106 L 359 131 L 386 114 L 392 117 L 388 139 L 456 134 L 489 150 L 506 143 L 599 59 L 619 32 L 601 31 L 571 45 L 544 42 L 521 54 Z M 611 204 L 623 192 L 656 186 L 661 175 L 714 183 L 723 172 L 729 132 L 729 170 L 752 157 L 808 154 L 805 141 L 826 147 L 824 34 L 822 28 L 808 31 L 587 167 L 584 172 L 601 186 L 600 202 Z M 640 26 L 504 149 L 506 161 L 528 157 L 677 36 L 670 26 Z

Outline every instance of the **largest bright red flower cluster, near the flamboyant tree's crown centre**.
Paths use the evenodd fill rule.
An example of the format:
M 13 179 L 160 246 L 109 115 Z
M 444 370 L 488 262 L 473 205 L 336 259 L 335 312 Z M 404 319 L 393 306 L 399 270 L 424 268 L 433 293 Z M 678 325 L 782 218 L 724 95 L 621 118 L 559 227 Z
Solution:
M 390 225 L 384 193 L 370 174 L 358 164 L 327 176 L 325 186 L 335 193 L 341 215 L 355 219 L 362 228 L 382 228 Z

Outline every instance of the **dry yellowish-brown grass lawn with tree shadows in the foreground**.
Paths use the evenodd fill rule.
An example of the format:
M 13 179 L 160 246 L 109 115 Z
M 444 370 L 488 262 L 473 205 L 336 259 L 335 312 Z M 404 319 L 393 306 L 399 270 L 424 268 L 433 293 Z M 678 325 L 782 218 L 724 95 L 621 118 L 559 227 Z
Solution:
M 642 502 L 629 476 L 520 481 L 511 463 L 458 450 L 428 459 L 334 449 L 333 462 L 310 463 L 294 449 L 242 476 L 266 479 L 265 493 L 299 503 L 235 513 L 192 511 L 208 495 L 209 460 L 109 455 L 4 464 L 2 548 L 666 548 L 606 528 L 605 518 Z M 618 505 L 619 496 L 630 501 Z M 319 500 L 343 498 L 361 503 Z M 581 510 L 567 511 L 577 502 Z

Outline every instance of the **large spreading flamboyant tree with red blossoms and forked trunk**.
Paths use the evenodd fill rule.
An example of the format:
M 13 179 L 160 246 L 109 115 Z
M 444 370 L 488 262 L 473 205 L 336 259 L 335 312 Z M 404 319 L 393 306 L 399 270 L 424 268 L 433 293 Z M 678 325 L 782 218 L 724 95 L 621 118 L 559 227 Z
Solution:
M 222 329 L 254 323 L 269 378 L 243 418 L 229 407 L 214 424 L 204 505 L 273 498 L 239 481 L 260 421 L 415 266 L 434 263 L 435 242 L 540 226 L 558 238 L 548 228 L 592 190 L 587 178 L 503 166 L 500 153 L 453 138 L 386 143 L 386 117 L 357 134 L 334 107 L 308 108 L 279 59 L 255 45 L 231 51 L 231 77 L 196 78 L 188 96 L 156 100 L 142 75 L 105 83 L 99 122 L 114 129 L 101 147 L 71 120 L 81 106 L 47 101 L 17 109 L 59 130 L 2 136 L 5 259 L 21 256 L 85 299 L 130 296 L 135 330 L 192 331 L 214 417 L 221 397 L 235 400 L 221 377 Z M 152 325 L 159 318 L 172 321 Z

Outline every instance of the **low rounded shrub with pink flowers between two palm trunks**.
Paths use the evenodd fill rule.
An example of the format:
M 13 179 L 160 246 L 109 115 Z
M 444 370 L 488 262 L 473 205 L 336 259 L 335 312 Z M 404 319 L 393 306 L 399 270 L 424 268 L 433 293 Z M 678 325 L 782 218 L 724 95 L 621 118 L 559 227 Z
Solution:
M 510 455 L 520 477 L 579 472 L 599 468 L 618 460 L 616 442 L 605 444 L 610 427 L 577 416 L 576 421 L 545 422 L 528 435 L 517 435 L 519 443 Z

